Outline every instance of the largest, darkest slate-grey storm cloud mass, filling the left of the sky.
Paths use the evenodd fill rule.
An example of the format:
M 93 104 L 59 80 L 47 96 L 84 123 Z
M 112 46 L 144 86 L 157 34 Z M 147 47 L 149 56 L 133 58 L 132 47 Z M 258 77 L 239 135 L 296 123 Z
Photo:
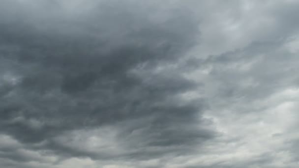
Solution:
M 1 8 L 25 5 L 6 3 Z M 195 44 L 198 23 L 191 13 L 173 9 L 156 22 L 150 16 L 161 11 L 130 2 L 94 3 L 80 16 L 63 15 L 59 3 L 43 5 L 15 15 L 4 11 L 1 19 L 1 67 L 8 75 L 1 85 L 2 133 L 32 150 L 95 160 L 188 154 L 193 145 L 213 139 L 201 119 L 203 101 L 180 98 L 197 84 L 179 69 L 167 69 Z M 39 10 L 50 13 L 35 16 Z M 90 152 L 56 140 L 72 141 L 69 132 L 105 126 L 116 128 L 126 152 Z M 2 157 L 34 160 L 15 151 Z

